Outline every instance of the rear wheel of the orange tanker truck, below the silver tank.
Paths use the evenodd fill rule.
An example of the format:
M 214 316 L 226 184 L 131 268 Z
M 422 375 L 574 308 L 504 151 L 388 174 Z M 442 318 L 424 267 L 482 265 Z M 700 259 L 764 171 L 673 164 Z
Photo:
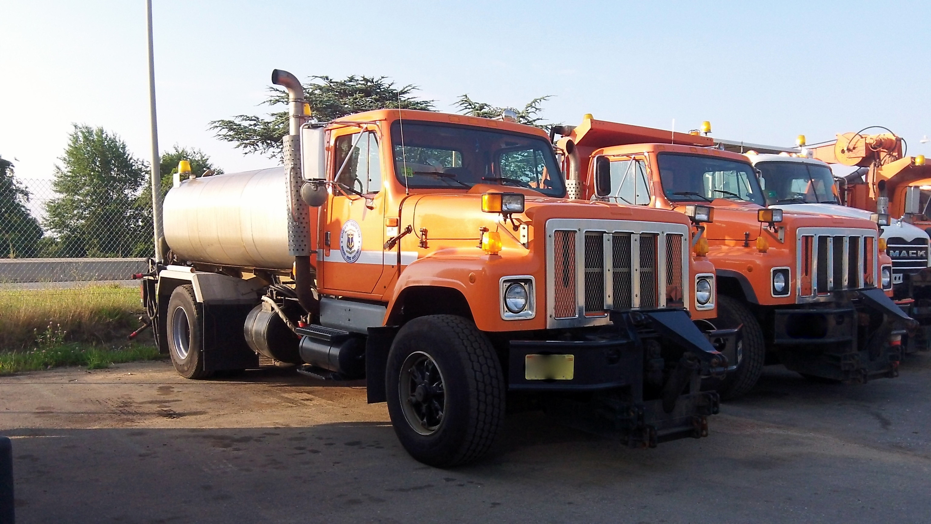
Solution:
M 206 379 L 204 371 L 204 335 L 201 332 L 202 307 L 197 304 L 194 287 L 179 285 L 171 292 L 166 319 L 171 364 L 185 379 Z

